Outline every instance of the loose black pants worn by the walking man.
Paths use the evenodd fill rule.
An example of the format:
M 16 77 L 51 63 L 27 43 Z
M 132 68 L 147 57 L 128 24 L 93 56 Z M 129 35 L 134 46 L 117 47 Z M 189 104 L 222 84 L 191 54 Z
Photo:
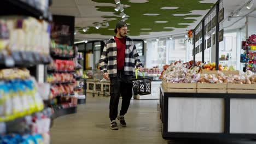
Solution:
M 122 95 L 122 106 L 120 115 L 124 116 L 127 112 L 132 98 L 132 76 L 124 75 L 123 70 L 118 70 L 117 77 L 110 78 L 110 104 L 109 118 L 115 120 L 118 116 L 118 103 L 120 94 Z

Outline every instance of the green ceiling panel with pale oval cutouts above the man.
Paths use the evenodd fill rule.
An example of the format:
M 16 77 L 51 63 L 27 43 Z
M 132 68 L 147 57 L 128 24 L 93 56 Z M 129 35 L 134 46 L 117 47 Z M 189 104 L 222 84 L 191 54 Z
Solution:
M 92 0 L 97 3 L 112 3 L 114 0 Z M 192 15 L 193 10 L 207 10 L 210 9 L 213 3 L 200 3 L 200 0 L 148 0 L 146 3 L 134 3 L 128 0 L 121 0 L 121 4 L 128 7 L 124 8 L 124 13 L 128 15 L 129 23 L 128 32 L 131 36 L 149 34 L 149 32 L 171 32 L 173 28 L 187 28 L 189 23 L 194 23 L 194 17 L 202 15 Z M 172 7 L 171 9 L 163 9 L 164 7 Z M 173 9 L 173 7 L 177 7 Z M 82 27 L 76 27 L 81 34 L 101 34 L 113 35 L 113 28 L 115 23 L 121 20 L 119 16 L 120 11 L 115 11 L 114 7 L 96 7 L 98 11 L 112 12 L 113 16 L 102 16 L 104 20 L 116 19 L 109 21 L 109 27 L 96 29 L 90 27 L 89 31 L 83 32 Z M 158 15 L 144 15 L 144 14 L 158 14 Z M 181 14 L 178 16 L 173 16 Z M 156 23 L 155 21 L 166 21 L 166 23 Z M 144 29 L 143 29 L 144 28 Z

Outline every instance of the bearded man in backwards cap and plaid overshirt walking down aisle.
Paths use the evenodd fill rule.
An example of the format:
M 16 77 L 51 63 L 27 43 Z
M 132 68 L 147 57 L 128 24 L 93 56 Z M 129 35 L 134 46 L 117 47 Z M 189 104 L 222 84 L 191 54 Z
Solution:
M 117 130 L 118 125 L 115 122 L 117 117 L 120 125 L 126 127 L 124 115 L 129 109 L 132 98 L 131 78 L 135 73 L 135 67 L 142 67 L 142 63 L 135 44 L 126 36 L 126 23 L 119 21 L 115 27 L 115 33 L 115 37 L 106 42 L 99 63 L 104 79 L 110 79 L 110 129 Z M 123 100 L 118 116 L 120 94 Z

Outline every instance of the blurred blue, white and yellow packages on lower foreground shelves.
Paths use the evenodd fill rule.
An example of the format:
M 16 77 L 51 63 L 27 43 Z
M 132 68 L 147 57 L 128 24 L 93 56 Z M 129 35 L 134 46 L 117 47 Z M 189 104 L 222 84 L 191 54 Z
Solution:
M 50 143 L 51 110 L 45 108 L 48 83 L 37 83 L 27 69 L 0 70 L 0 142 Z

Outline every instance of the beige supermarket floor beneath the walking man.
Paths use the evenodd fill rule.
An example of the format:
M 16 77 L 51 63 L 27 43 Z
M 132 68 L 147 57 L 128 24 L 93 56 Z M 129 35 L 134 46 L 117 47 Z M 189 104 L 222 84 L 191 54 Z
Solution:
M 109 97 L 88 95 L 78 113 L 56 118 L 51 128 L 55 143 L 167 143 L 161 137 L 158 100 L 132 100 L 127 127 L 109 129 Z M 119 105 L 120 106 L 120 105 Z M 118 122 L 119 124 L 119 122 Z

